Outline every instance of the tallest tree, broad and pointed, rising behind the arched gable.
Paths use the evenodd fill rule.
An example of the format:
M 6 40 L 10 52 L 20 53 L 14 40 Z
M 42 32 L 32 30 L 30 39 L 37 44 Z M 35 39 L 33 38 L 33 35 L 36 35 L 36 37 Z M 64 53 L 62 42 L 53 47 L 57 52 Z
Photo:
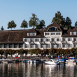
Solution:
M 61 24 L 62 26 L 64 26 L 65 18 L 63 18 L 60 11 L 55 13 L 55 17 L 52 19 L 52 23 L 57 23 L 59 25 Z

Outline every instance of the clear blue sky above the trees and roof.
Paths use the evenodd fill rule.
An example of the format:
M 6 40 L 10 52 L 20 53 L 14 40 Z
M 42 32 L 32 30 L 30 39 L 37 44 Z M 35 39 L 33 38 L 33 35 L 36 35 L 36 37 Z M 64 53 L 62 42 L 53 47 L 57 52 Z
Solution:
M 21 29 L 21 22 L 24 19 L 28 22 L 32 13 L 45 20 L 48 26 L 57 11 L 64 18 L 70 17 L 74 26 L 77 21 L 77 0 L 0 0 L 0 27 L 7 30 L 8 22 L 14 20 L 16 29 Z

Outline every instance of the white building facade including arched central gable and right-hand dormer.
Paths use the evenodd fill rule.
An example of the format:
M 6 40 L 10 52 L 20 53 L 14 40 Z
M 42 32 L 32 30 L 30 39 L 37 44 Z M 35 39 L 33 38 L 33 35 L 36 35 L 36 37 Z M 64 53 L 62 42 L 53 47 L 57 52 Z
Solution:
M 76 35 L 77 31 L 70 32 L 70 35 Z M 77 47 L 77 37 L 64 37 L 62 31 L 57 27 L 49 27 L 44 32 L 43 38 L 24 38 L 23 49 L 71 49 Z

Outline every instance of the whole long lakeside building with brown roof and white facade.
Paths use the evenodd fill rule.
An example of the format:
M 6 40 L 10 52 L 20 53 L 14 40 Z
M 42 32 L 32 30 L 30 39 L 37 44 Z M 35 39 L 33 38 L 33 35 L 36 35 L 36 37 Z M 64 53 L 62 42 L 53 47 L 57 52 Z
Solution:
M 77 48 L 77 27 L 63 29 L 56 23 L 45 29 L 0 31 L 0 49 Z

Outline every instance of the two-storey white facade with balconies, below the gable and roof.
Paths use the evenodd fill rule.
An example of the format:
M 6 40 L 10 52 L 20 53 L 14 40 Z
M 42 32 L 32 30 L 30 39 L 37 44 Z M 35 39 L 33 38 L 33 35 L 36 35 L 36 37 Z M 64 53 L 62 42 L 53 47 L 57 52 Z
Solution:
M 74 39 L 76 39 L 76 41 Z M 44 38 L 24 38 L 24 49 L 71 49 L 76 47 L 77 37 L 52 36 Z

